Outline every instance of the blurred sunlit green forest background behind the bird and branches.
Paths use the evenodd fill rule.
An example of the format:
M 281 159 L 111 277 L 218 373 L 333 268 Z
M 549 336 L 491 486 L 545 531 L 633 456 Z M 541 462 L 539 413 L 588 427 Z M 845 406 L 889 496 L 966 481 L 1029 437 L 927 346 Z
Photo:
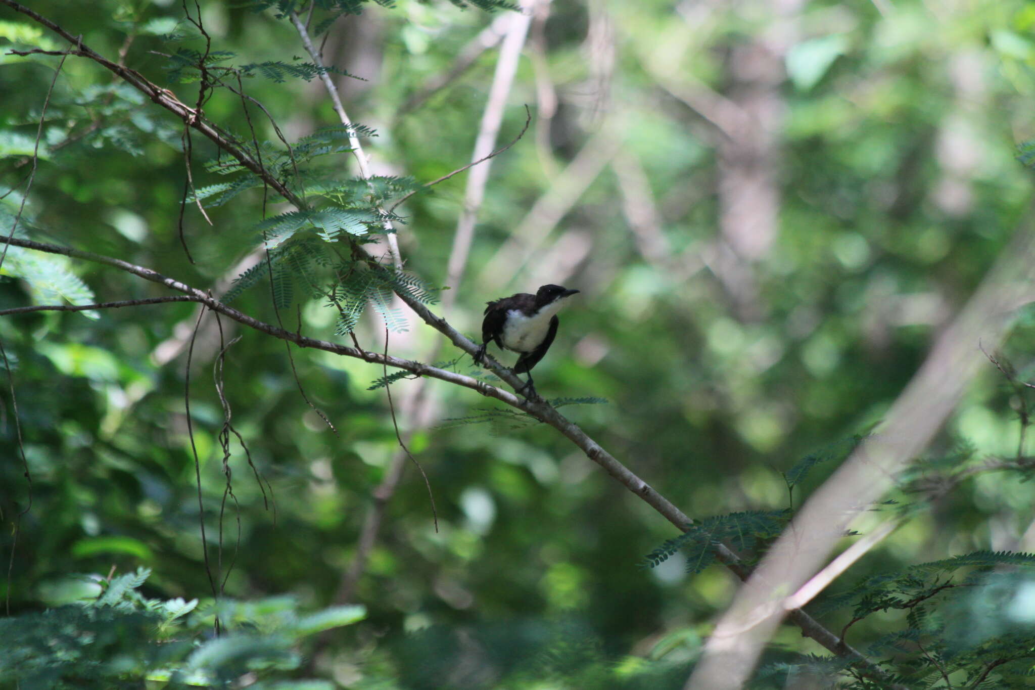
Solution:
M 782 473 L 879 421 L 1011 234 L 1030 227 L 1030 174 L 1016 146 L 1035 134 L 1035 3 L 533 4 L 500 142 L 521 130 L 524 104 L 532 124 L 492 162 L 466 274 L 446 286 L 466 175 L 397 210 L 407 267 L 449 289 L 447 316 L 470 334 L 489 299 L 544 282 L 579 288 L 536 368 L 543 395 L 608 398 L 565 412 L 691 517 L 796 507 L 836 463 L 818 468 L 794 506 Z M 179 3 L 38 0 L 32 8 L 106 56 L 125 48 L 127 64 L 193 103 L 197 86 L 169 83 L 161 55 L 176 49 L 166 34 L 184 26 Z M 272 10 L 204 0 L 201 11 L 213 49 L 234 52 L 235 63 L 303 55 Z M 365 80 L 335 77 L 350 116 L 377 130 L 365 141 L 376 173 L 425 182 L 471 159 L 498 55 L 479 35 L 505 17 L 398 0 L 364 5 L 330 28 L 327 63 Z M 5 48 L 63 48 L 6 8 L 0 38 Z M 473 57 L 470 65 L 428 94 L 461 56 Z M 5 190 L 31 168 L 58 59 L 0 58 Z M 336 122 L 319 81 L 255 78 L 247 91 L 291 141 Z M 178 236 L 180 124 L 77 58 L 65 61 L 50 109 L 26 207 L 30 234 L 226 289 L 256 248 L 261 189 L 210 208 L 212 226 L 186 207 L 191 264 Z M 216 93 L 206 113 L 246 131 L 232 94 Z M 261 137 L 275 139 L 252 117 Z M 201 166 L 215 151 L 199 137 L 194 143 L 196 183 L 221 181 Z M 333 161 L 342 176 L 357 174 L 351 157 Z M 2 202 L 4 232 L 21 189 Z M 12 250 L 7 261 L 31 256 Z M 82 283 L 48 292 L 47 280 L 9 279 L 0 308 L 165 294 L 85 263 L 62 262 L 45 275 Z M 262 286 L 235 306 L 276 320 Z M 142 590 L 149 596 L 209 592 L 184 411 L 197 313 L 191 304 L 161 304 L 0 320 L 32 475 L 22 515 L 30 485 L 5 390 L 0 509 L 12 613 L 77 600 L 84 592 L 71 574 L 113 567 L 151 568 Z M 282 316 L 288 328 L 335 338 L 337 314 L 325 300 Z M 242 336 L 226 356 L 234 423 L 275 500 L 275 513 L 264 508 L 234 445 L 237 501 L 223 520 L 225 574 L 234 562 L 227 595 L 291 594 L 303 607 L 327 606 L 397 451 L 385 391 L 368 390 L 384 372 L 294 352 L 298 378 L 335 436 L 299 395 L 282 342 L 223 327 L 228 340 Z M 384 347 L 376 316 L 356 335 L 364 348 Z M 1035 321 L 1022 318 L 1004 349 L 1022 380 L 1035 363 L 1033 335 Z M 389 350 L 427 359 L 440 337 L 411 319 Z M 212 540 L 225 486 L 218 351 L 208 318 L 194 346 L 189 396 Z M 467 371 L 470 360 L 456 366 Z M 418 384 L 393 384 L 396 401 Z M 1018 411 L 1031 392 L 989 363 L 930 452 L 963 440 L 974 449 L 968 458 L 1025 457 Z M 438 420 L 494 406 L 438 381 L 425 400 Z M 400 415 L 400 424 L 414 417 Z M 561 687 L 680 687 L 735 589 L 730 573 L 691 577 L 679 557 L 638 567 L 672 527 L 554 429 L 433 426 L 416 430 L 411 449 L 435 492 L 439 530 L 423 481 L 407 468 L 354 596 L 366 619 L 329 638 L 314 673 L 356 688 L 494 687 L 503 679 L 545 687 L 535 684 L 551 678 L 568 679 Z M 975 473 L 846 577 L 976 549 L 1035 550 L 1024 477 Z M 849 618 L 834 612 L 825 622 L 839 630 Z M 876 637 L 899 620 L 894 611 L 866 619 L 853 634 Z M 822 652 L 791 627 L 775 642 L 776 655 Z M 647 668 L 657 660 L 670 665 Z

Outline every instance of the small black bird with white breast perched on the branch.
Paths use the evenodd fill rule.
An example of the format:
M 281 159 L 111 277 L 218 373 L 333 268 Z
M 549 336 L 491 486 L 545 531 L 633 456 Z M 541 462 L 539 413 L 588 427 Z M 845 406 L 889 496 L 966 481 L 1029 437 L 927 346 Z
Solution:
M 557 335 L 560 320 L 557 312 L 564 301 L 578 294 L 562 286 L 545 284 L 534 295 L 518 293 L 486 302 L 485 318 L 481 322 L 481 346 L 474 354 L 474 361 L 483 363 L 485 348 L 496 341 L 502 350 L 521 353 L 514 364 L 514 373 L 528 373 L 528 381 L 518 392 L 528 390 L 527 397 L 535 394 L 532 367 L 550 350 Z

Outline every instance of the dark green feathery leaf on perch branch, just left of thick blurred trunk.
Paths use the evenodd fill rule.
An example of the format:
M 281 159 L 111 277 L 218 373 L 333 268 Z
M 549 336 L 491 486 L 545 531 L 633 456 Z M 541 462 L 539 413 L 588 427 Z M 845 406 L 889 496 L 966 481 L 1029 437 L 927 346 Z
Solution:
M 706 517 L 648 553 L 645 565 L 656 568 L 682 550 L 686 556 L 686 572 L 699 573 L 717 563 L 717 544 L 727 543 L 737 551 L 753 551 L 760 541 L 778 536 L 790 519 L 790 510 L 753 510 Z

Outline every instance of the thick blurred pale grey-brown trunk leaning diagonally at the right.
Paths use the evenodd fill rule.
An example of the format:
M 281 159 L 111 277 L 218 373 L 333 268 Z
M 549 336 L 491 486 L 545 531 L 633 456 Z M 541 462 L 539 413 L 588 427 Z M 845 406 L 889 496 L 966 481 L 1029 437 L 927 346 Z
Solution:
M 860 445 L 795 516 L 737 593 L 705 646 L 687 688 L 739 688 L 780 622 L 773 602 L 822 567 L 844 530 L 894 482 L 952 413 L 977 372 L 980 340 L 1005 336 L 1035 278 L 1035 233 L 1026 219 L 996 265 L 885 415 L 881 433 Z

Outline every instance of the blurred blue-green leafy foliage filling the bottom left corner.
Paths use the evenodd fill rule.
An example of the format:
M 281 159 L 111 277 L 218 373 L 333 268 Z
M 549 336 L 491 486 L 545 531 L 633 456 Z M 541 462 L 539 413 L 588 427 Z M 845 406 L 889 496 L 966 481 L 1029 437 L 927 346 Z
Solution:
M 150 573 L 139 568 L 110 582 L 90 578 L 101 589 L 93 600 L 0 619 L 0 677 L 53 690 L 136 687 L 145 680 L 224 688 L 245 676 L 249 684 L 283 682 L 301 667 L 303 638 L 365 616 L 362 606 L 300 614 L 292 597 L 200 605 L 149 599 L 139 589 Z

